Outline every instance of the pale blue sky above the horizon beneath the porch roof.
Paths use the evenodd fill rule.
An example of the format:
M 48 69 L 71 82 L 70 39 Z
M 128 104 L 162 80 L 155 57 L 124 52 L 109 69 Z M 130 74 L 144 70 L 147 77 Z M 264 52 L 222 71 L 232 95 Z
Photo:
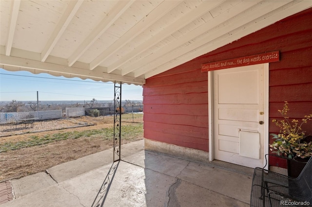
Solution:
M 142 100 L 142 86 L 122 85 L 122 100 Z M 64 78 L 47 73 L 0 69 L 0 101 L 113 100 L 114 84 L 91 79 Z

